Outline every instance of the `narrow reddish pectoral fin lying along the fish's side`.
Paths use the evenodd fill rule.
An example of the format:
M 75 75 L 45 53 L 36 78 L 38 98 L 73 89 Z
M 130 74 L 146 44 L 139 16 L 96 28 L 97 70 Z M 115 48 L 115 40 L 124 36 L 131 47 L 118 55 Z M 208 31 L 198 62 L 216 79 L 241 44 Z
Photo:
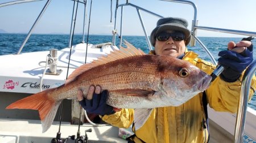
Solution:
M 151 97 L 155 91 L 154 90 L 142 90 L 142 89 L 118 89 L 109 91 L 113 96 L 125 95 L 125 96 L 138 96 L 138 97 Z

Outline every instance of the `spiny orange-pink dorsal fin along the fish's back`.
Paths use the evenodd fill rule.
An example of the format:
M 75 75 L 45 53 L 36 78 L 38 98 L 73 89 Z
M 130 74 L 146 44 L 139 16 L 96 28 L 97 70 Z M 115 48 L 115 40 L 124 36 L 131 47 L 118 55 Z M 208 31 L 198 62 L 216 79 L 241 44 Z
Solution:
M 102 64 L 113 62 L 114 60 L 118 60 L 118 59 L 133 57 L 136 55 L 146 55 L 141 49 L 137 49 L 127 41 L 125 41 L 125 45 L 127 46 L 126 48 L 121 46 L 119 50 L 111 51 L 110 54 L 106 56 L 102 56 L 96 60 L 93 60 L 92 63 L 83 64 L 82 66 L 77 68 L 75 71 L 73 71 L 71 75 L 68 76 L 66 84 L 75 80 L 77 76 L 81 75 L 81 73 L 88 71 L 93 67 L 97 67 Z

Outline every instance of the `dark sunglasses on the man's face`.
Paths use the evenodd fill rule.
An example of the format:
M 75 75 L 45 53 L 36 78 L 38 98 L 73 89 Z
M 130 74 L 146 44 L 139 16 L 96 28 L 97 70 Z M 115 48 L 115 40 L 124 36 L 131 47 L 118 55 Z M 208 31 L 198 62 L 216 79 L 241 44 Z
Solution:
M 184 34 L 178 31 L 175 31 L 174 33 L 166 33 L 166 32 L 159 33 L 158 36 L 156 36 L 156 39 L 158 41 L 167 41 L 170 37 L 172 37 L 172 40 L 174 41 L 181 41 L 185 39 Z

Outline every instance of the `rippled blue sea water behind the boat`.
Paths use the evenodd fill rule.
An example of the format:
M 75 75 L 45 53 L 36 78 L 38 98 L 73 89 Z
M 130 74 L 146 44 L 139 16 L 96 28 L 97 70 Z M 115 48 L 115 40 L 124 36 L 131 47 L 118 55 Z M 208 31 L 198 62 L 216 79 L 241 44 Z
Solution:
M 9 34 L 0 33 L 0 55 L 16 54 L 19 47 L 22 45 L 27 34 Z M 85 41 L 89 44 L 101 44 L 105 42 L 112 42 L 112 36 L 110 35 L 89 35 L 88 39 L 82 38 L 82 35 L 75 35 L 73 37 L 72 45 L 79 44 L 81 41 Z M 229 41 L 238 42 L 242 38 L 227 38 L 227 37 L 199 37 L 200 40 L 208 47 L 208 50 L 213 54 L 214 59 L 218 59 L 218 52 L 227 49 Z M 148 45 L 144 36 L 123 36 L 123 40 L 126 40 L 133 44 L 135 47 L 142 49 L 145 53 L 148 53 Z M 255 41 L 253 41 L 255 45 Z M 119 45 L 119 38 L 116 37 L 116 45 Z M 69 45 L 68 34 L 32 34 L 28 39 L 26 45 L 23 47 L 21 53 L 27 53 L 31 51 L 45 51 L 49 49 L 63 49 Z M 122 45 L 124 46 L 124 45 Z M 154 47 L 153 47 L 154 48 Z M 202 47 L 197 44 L 194 47 L 188 46 L 188 50 L 195 51 L 199 54 L 199 58 L 210 62 L 210 58 Z M 256 54 L 254 52 L 254 59 Z M 251 99 L 249 107 L 256 110 L 256 96 Z

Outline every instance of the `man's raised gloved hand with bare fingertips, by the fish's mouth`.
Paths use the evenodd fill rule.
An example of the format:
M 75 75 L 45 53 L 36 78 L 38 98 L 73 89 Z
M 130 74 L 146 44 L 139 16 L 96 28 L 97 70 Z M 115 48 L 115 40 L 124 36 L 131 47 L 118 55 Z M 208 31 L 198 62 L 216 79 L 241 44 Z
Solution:
M 218 64 L 225 68 L 220 75 L 221 79 L 234 82 L 253 62 L 253 43 L 251 41 L 240 41 L 237 44 L 233 41 L 229 42 L 228 50 L 220 51 L 218 55 L 220 56 Z

